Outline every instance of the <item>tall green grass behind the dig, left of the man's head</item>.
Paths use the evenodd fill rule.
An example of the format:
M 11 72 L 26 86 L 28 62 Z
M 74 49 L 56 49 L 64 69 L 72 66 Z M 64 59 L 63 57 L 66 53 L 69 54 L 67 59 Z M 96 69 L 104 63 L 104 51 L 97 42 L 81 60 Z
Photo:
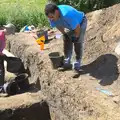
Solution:
M 25 25 L 48 26 L 44 15 L 47 0 L 2 0 L 0 1 L 0 25 L 13 23 L 19 31 Z

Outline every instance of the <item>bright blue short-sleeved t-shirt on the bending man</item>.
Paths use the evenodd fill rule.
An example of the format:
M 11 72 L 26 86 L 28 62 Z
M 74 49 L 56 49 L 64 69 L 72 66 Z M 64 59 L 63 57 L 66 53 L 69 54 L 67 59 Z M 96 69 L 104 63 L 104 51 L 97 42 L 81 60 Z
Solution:
M 84 13 L 69 5 L 58 5 L 60 18 L 57 21 L 50 20 L 51 27 L 62 26 L 69 30 L 74 30 L 82 22 Z

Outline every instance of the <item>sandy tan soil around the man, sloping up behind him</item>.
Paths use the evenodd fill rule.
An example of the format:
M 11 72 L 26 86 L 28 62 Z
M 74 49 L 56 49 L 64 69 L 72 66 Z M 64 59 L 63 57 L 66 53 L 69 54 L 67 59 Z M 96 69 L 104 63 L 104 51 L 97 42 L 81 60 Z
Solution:
M 48 54 L 58 51 L 63 54 L 62 39 L 49 40 L 45 50 L 36 54 L 37 59 L 28 56 L 30 71 L 34 70 L 31 78 L 37 78 L 39 72 L 41 91 L 47 97 L 52 120 L 120 120 L 120 57 L 114 52 L 120 41 L 120 4 L 88 13 L 87 18 L 81 74 L 52 69 Z M 27 41 L 25 37 L 14 39 L 18 38 Z M 16 44 L 21 45 L 21 41 Z M 31 49 L 23 47 L 26 46 L 11 45 L 11 50 L 16 49 L 14 53 L 24 59 L 28 52 L 24 56 L 19 52 L 25 54 L 27 49 L 30 53 Z M 38 62 L 39 59 L 43 62 Z M 39 64 L 36 67 L 34 63 Z

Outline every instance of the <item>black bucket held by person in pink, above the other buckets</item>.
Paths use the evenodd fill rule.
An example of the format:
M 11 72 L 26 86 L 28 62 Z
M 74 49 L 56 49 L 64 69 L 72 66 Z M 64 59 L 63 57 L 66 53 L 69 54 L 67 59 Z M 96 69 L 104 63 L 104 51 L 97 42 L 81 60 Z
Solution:
M 17 57 L 7 57 L 7 71 L 11 73 L 23 73 L 25 68 L 23 62 Z

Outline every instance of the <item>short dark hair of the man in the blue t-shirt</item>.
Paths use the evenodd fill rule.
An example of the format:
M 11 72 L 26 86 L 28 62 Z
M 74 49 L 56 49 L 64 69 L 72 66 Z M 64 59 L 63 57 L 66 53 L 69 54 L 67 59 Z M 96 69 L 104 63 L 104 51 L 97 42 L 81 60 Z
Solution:
M 49 3 L 45 6 L 45 15 L 48 16 L 49 13 L 54 14 L 55 10 L 58 10 L 58 7 L 54 3 Z

